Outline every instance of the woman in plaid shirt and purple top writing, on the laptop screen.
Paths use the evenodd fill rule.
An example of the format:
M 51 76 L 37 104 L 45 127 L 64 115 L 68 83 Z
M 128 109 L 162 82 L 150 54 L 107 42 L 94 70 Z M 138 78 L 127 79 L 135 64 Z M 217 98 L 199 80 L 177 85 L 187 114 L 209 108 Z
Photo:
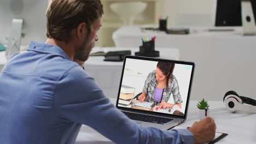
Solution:
M 159 105 L 158 109 L 181 109 L 182 98 L 176 77 L 172 74 L 174 63 L 158 62 L 156 70 L 148 74 L 143 91 L 139 95 L 140 102 L 148 101 Z M 174 104 L 167 103 L 173 95 Z

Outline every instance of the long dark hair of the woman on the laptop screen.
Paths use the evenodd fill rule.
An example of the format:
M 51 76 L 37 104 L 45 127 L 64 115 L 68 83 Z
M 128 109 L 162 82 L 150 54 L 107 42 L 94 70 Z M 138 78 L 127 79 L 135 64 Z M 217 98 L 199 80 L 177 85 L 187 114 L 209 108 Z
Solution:
M 172 76 L 174 66 L 175 66 L 175 63 L 168 63 L 168 62 L 158 62 L 158 64 L 156 65 L 156 67 L 159 68 L 167 78 L 166 91 L 168 90 L 169 79 Z

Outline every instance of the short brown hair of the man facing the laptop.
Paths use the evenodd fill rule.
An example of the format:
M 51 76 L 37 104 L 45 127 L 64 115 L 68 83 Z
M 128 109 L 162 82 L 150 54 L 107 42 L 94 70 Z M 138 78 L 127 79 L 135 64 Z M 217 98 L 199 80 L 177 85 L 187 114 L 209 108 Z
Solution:
M 67 43 L 72 29 L 85 22 L 89 34 L 91 23 L 102 15 L 100 0 L 52 0 L 46 11 L 46 36 Z

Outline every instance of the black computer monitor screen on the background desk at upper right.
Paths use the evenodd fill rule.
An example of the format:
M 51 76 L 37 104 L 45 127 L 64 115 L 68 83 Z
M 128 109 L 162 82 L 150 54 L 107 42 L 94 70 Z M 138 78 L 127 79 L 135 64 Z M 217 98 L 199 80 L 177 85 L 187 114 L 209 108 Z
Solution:
M 256 17 L 256 0 L 250 0 L 254 20 Z M 217 0 L 215 26 L 242 26 L 241 0 Z

